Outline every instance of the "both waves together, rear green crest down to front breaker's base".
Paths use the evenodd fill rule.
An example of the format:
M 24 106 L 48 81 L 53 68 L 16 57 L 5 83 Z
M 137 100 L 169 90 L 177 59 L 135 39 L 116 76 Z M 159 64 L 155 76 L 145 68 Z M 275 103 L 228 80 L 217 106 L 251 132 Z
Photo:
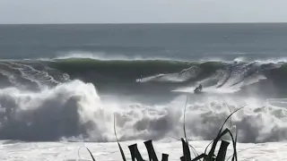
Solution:
M 230 125 L 240 142 L 287 139 L 283 100 L 265 103 L 286 94 L 284 62 L 63 58 L 0 66 L 1 140 L 113 141 L 113 114 L 120 140 L 180 138 L 182 94 L 199 83 L 205 93 L 187 103 L 191 139 L 213 140 L 242 105 Z

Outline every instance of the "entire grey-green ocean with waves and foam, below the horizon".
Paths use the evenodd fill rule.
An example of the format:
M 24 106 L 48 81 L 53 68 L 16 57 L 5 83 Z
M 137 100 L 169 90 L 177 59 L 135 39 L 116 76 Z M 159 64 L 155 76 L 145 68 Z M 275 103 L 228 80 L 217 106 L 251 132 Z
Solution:
M 244 106 L 227 124 L 253 148 L 240 160 L 286 159 L 286 42 L 285 23 L 0 25 L 0 158 L 76 160 L 87 145 L 117 160 L 115 118 L 124 144 L 179 160 L 187 103 L 199 150 Z

